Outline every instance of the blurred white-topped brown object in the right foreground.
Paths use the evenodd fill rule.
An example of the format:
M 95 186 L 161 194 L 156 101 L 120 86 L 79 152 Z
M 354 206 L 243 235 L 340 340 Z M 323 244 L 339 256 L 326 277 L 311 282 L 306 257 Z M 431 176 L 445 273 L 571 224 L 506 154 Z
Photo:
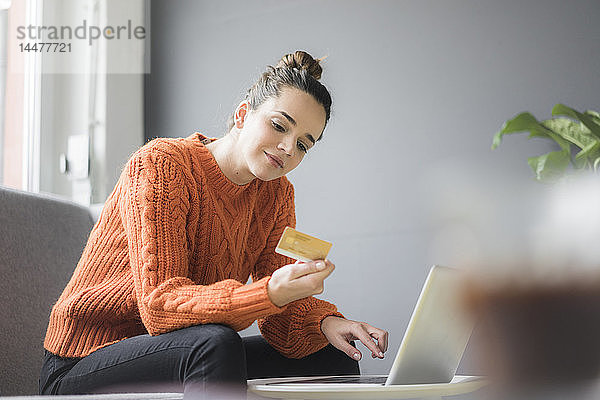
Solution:
M 520 261 L 473 268 L 465 295 L 480 318 L 481 364 L 498 398 L 556 387 L 587 399 L 600 376 L 600 180 L 561 182 L 538 212 Z

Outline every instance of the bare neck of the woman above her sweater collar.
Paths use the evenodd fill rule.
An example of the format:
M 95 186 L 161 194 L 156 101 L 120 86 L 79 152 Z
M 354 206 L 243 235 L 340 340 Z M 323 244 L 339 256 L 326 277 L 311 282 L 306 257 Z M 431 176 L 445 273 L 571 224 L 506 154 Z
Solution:
M 248 170 L 245 159 L 238 149 L 235 132 L 229 132 L 205 147 L 211 152 L 227 179 L 240 186 L 254 180 L 254 175 Z

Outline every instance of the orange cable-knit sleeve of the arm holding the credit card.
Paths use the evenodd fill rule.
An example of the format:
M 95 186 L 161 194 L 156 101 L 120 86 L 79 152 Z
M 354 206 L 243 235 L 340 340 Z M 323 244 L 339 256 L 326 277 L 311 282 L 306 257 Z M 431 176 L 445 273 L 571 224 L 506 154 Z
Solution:
M 241 330 L 282 310 L 268 297 L 268 278 L 248 285 L 226 279 L 205 286 L 189 278 L 187 229 L 197 223 L 199 204 L 193 199 L 187 167 L 150 148 L 134 154 L 126 168 L 119 213 L 137 306 L 148 333 L 203 323 Z

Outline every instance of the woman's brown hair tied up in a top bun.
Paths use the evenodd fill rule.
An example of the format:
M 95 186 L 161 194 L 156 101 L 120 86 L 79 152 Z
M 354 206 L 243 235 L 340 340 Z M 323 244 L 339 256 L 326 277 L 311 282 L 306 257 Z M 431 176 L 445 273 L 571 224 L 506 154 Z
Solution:
M 331 95 L 319 79 L 323 69 L 319 62 L 305 51 L 298 50 L 284 55 L 276 66 L 268 66 L 267 71 L 248 89 L 245 99 L 251 110 L 256 110 L 271 97 L 278 97 L 285 87 L 292 87 L 306 92 L 325 109 L 325 125 L 331 115 Z M 233 128 L 233 115 L 229 117 L 228 128 Z M 322 137 L 323 135 L 321 135 Z M 319 137 L 319 139 L 321 139 Z M 318 139 L 318 140 L 319 140 Z

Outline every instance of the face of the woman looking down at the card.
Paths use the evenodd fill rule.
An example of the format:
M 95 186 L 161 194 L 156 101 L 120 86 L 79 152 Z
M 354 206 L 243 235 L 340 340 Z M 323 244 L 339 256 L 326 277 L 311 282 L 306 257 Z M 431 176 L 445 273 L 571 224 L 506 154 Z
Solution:
M 238 128 L 250 173 L 269 181 L 292 171 L 312 149 L 325 128 L 325 110 L 310 94 L 286 87 L 245 113 Z

